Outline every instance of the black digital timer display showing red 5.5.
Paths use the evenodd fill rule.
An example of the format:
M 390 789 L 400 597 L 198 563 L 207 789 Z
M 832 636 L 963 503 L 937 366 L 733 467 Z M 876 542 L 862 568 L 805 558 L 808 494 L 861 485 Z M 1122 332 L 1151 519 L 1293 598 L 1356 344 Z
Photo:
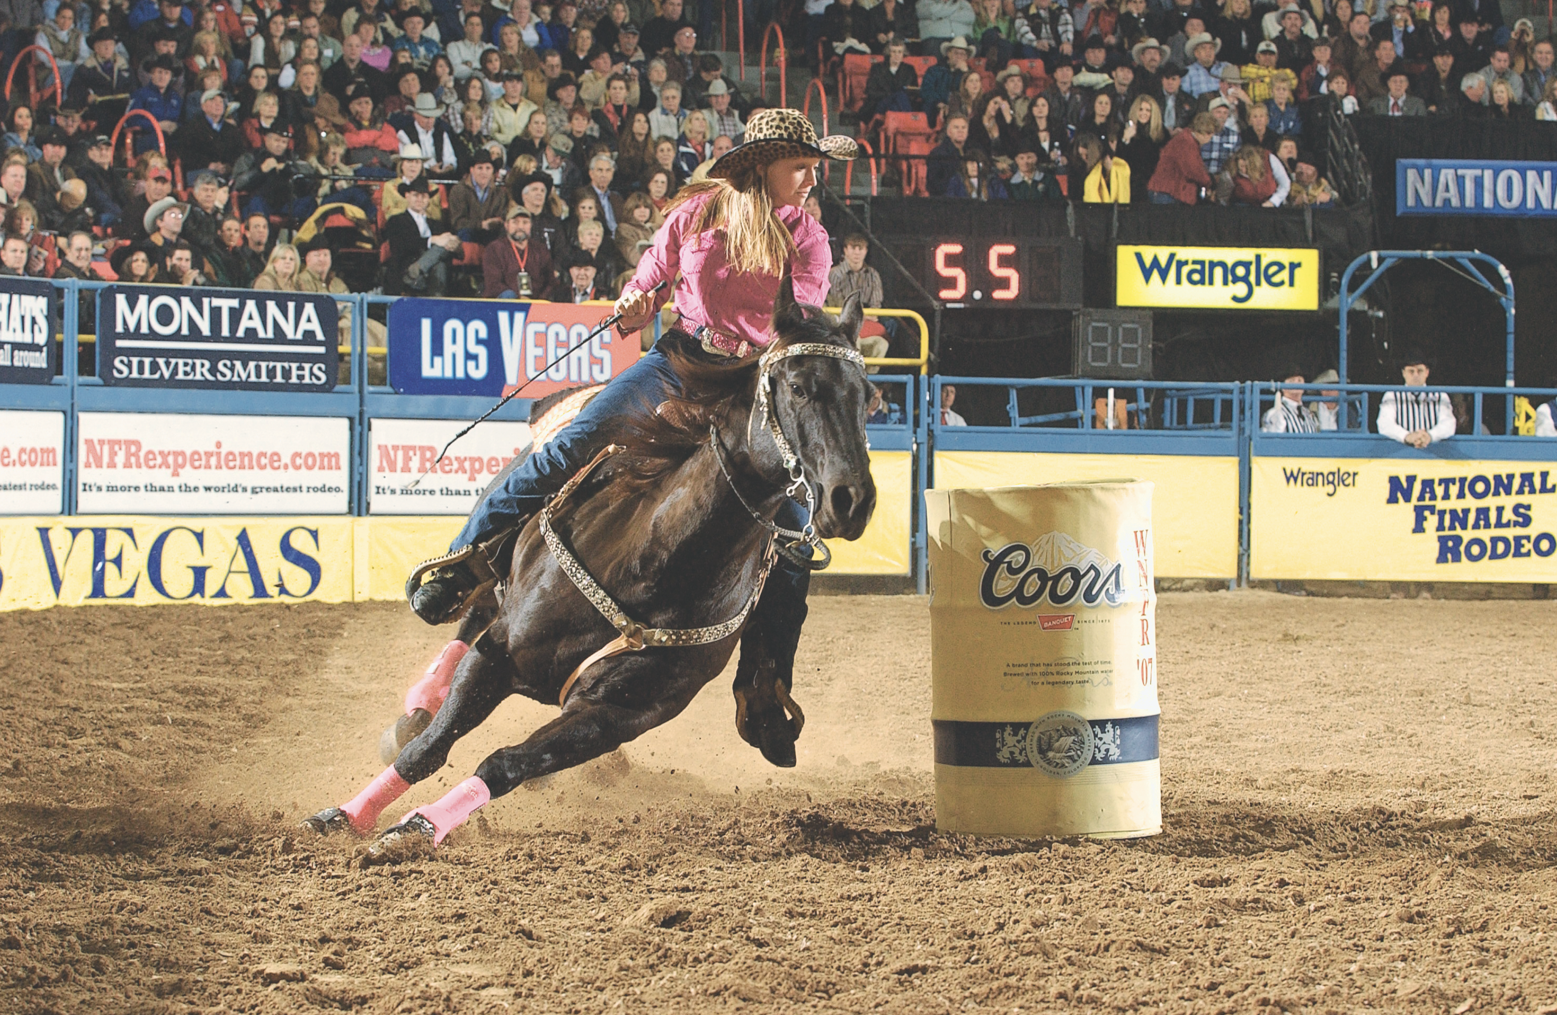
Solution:
M 1081 240 L 912 237 L 886 240 L 923 291 L 950 308 L 1081 307 Z

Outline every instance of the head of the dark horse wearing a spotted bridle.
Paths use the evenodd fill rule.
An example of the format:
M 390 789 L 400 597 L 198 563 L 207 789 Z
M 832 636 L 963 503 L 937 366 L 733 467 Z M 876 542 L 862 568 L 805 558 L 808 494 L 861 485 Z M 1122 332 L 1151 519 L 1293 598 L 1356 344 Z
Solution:
M 841 318 L 794 300 L 783 280 L 774 302 L 774 346 L 763 356 L 774 420 L 816 490 L 816 531 L 827 539 L 859 539 L 875 511 L 875 483 L 866 444 L 870 381 L 864 369 L 805 346 L 858 353 L 864 313 L 858 296 L 844 302 Z M 799 355 L 783 355 L 791 350 Z

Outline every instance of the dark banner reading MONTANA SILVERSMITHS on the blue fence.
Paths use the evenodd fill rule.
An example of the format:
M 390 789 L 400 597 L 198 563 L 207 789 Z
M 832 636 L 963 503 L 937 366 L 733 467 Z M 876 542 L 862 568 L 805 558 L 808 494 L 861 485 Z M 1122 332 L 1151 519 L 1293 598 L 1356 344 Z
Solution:
M 268 290 L 98 291 L 98 377 L 129 388 L 333 391 L 335 299 Z

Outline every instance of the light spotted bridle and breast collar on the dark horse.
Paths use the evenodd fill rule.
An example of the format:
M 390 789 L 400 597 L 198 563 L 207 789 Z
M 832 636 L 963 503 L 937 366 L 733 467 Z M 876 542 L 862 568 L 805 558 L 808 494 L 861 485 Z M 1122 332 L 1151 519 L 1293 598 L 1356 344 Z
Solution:
M 760 360 L 761 372 L 758 374 L 757 378 L 757 405 L 754 406 L 752 413 L 754 414 L 757 411 L 763 413 L 764 420 L 768 423 L 768 430 L 774 437 L 774 444 L 778 445 L 778 455 L 783 459 L 785 470 L 789 473 L 789 486 L 785 489 L 785 495 L 794 497 L 796 492 L 802 489 L 805 490 L 807 520 L 805 520 L 805 528 L 800 529 L 799 532 L 775 525 L 774 522 L 758 514 L 749 503 L 746 503 L 746 498 L 741 495 L 741 490 L 735 486 L 735 478 L 730 475 L 730 470 L 726 465 L 724 445 L 719 442 L 718 431 L 710 423 L 710 442 L 713 444 L 715 461 L 719 462 L 719 472 L 724 473 L 724 479 L 730 484 L 730 490 L 735 492 L 735 498 L 741 503 L 741 506 L 746 508 L 746 511 L 752 515 L 752 518 L 755 518 L 758 525 L 761 525 L 769 532 L 768 550 L 763 554 L 761 568 L 757 571 L 757 582 L 755 587 L 752 588 L 752 595 L 747 596 L 746 604 L 741 606 L 741 610 L 730 620 L 722 621 L 719 624 L 710 624 L 707 627 L 684 627 L 684 629 L 645 627 L 643 624 L 635 621 L 627 613 L 627 610 L 621 607 L 621 604 L 612 599 L 610 593 L 606 592 L 599 585 L 599 582 L 595 581 L 595 576 L 589 573 L 589 570 L 579 562 L 579 559 L 573 554 L 573 551 L 568 550 L 568 546 L 562 542 L 562 537 L 557 536 L 556 529 L 551 528 L 551 512 L 556 511 L 561 504 L 564 504 L 568 500 L 568 497 L 571 497 L 573 492 L 579 487 L 579 484 L 584 483 L 584 479 L 592 472 L 595 472 L 595 469 L 601 462 L 626 450 L 620 444 L 612 444 L 604 450 L 601 450 L 599 455 L 596 455 L 587 465 L 584 465 L 584 469 L 575 473 L 573 478 L 568 479 L 561 490 L 557 490 L 557 495 L 556 498 L 551 500 L 551 503 L 548 503 L 545 508 L 540 509 L 539 515 L 540 536 L 547 540 L 547 548 L 556 559 L 557 567 L 562 568 L 562 573 L 568 576 L 568 579 L 584 595 L 584 598 L 590 601 L 590 606 L 593 606 L 599 612 L 599 615 L 604 616 L 606 621 L 610 623 L 610 626 L 615 627 L 618 632 L 612 641 L 592 652 L 584 662 L 581 662 L 573 669 L 571 674 L 568 674 L 568 679 L 562 682 L 562 690 L 557 693 L 559 707 L 567 707 L 568 694 L 573 691 L 573 687 L 578 683 L 579 677 L 584 676 L 584 671 L 604 659 L 612 659 L 613 655 L 623 655 L 626 652 L 641 652 L 646 648 L 684 648 L 693 644 L 712 644 L 715 641 L 722 641 L 724 638 L 729 638 L 732 634 L 740 630 L 741 626 L 746 623 L 746 618 L 750 615 L 752 609 L 757 606 L 757 601 L 761 598 L 763 585 L 766 585 L 768 582 L 768 573 L 772 570 L 772 565 L 777 560 L 777 554 L 783 550 L 780 539 L 803 542 L 810 545 L 813 550 L 817 550 L 824 554 L 821 562 L 813 562 L 808 559 L 796 559 L 793 554 L 785 553 L 788 559 L 796 560 L 796 564 L 800 564 L 802 567 L 810 567 L 811 570 L 819 571 L 831 562 L 831 553 L 828 553 L 827 545 L 816 536 L 816 525 L 814 525 L 816 492 L 813 490 L 811 483 L 805 478 L 805 470 L 800 467 L 800 459 L 794 453 L 794 448 L 791 447 L 788 437 L 785 437 L 783 428 L 778 425 L 778 419 L 771 411 L 768 403 L 769 402 L 768 386 L 772 381 L 771 377 L 772 367 L 780 360 L 788 360 L 789 356 L 831 356 L 835 360 L 847 360 L 849 363 L 855 363 L 856 366 L 864 369 L 864 356 L 861 356 L 858 352 L 855 352 L 853 349 L 842 349 L 839 346 L 828 346 L 825 342 L 797 342 L 794 346 L 764 352 Z

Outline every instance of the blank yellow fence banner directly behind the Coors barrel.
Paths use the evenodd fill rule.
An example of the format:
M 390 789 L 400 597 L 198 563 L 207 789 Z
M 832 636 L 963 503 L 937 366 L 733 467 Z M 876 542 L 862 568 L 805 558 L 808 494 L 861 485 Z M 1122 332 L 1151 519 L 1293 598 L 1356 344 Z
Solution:
M 1157 574 L 1238 574 L 1238 459 L 1199 455 L 936 451 L 936 489 L 1151 479 Z

